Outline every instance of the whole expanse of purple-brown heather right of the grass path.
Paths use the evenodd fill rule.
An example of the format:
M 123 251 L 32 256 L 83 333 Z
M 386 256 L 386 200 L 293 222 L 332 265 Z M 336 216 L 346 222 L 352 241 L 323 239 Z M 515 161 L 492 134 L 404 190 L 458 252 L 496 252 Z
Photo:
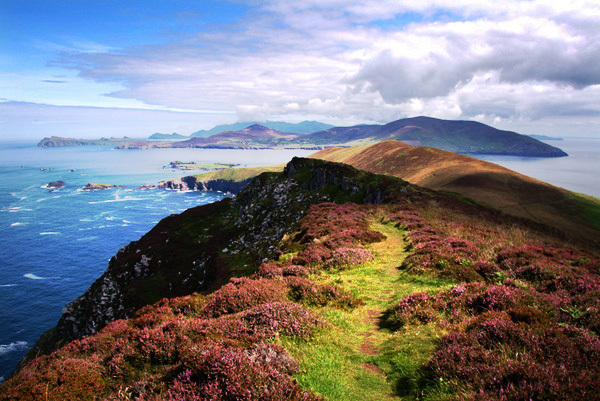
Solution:
M 597 257 L 520 239 L 491 247 L 480 227 L 462 240 L 442 231 L 447 223 L 430 226 L 414 213 L 404 227 L 413 252 L 401 269 L 457 283 L 411 294 L 384 314 L 392 330 L 449 331 L 415 388 L 482 400 L 600 397 Z

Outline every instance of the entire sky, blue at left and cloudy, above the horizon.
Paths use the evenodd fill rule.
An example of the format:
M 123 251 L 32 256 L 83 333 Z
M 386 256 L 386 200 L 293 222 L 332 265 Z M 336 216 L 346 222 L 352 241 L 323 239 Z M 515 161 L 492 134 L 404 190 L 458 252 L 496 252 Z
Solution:
M 419 115 L 600 137 L 600 1 L 0 0 L 0 140 Z

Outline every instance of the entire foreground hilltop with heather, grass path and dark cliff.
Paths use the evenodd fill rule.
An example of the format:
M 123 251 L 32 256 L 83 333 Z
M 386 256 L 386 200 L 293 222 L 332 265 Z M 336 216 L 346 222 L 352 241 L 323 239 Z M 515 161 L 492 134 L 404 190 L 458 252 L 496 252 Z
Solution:
M 566 243 L 294 158 L 121 249 L 0 399 L 594 400 L 600 260 Z

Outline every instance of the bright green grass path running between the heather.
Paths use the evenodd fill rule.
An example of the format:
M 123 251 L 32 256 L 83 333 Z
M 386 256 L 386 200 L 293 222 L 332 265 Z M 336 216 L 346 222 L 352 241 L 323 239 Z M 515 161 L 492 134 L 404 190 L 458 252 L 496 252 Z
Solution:
M 310 342 L 282 340 L 300 363 L 301 372 L 296 375 L 300 384 L 327 400 L 414 399 L 403 395 L 414 390 L 418 371 L 442 334 L 427 326 L 414 333 L 380 327 L 383 312 L 393 302 L 413 292 L 438 291 L 441 283 L 398 270 L 406 257 L 401 230 L 384 224 L 373 224 L 372 229 L 387 237 L 372 244 L 374 261 L 314 278 L 342 287 L 364 305 L 352 311 L 317 308 L 330 323 L 327 329 Z

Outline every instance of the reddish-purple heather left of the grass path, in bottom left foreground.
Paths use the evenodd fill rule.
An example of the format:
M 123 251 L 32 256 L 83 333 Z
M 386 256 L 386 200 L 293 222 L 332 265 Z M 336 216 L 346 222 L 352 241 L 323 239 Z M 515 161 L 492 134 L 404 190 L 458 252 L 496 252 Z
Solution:
M 115 321 L 95 336 L 35 359 L 0 398 L 319 398 L 299 387 L 291 376 L 297 364 L 273 339 L 305 341 L 322 328 L 321 319 L 289 301 L 213 318 L 203 317 L 202 304 L 211 305 L 200 295 L 165 300 L 134 319 Z

